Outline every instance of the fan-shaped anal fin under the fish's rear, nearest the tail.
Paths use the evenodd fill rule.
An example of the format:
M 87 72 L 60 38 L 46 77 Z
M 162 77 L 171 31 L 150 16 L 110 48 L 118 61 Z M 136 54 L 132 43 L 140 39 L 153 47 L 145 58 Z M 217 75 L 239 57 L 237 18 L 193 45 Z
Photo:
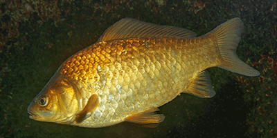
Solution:
M 186 93 L 202 98 L 211 98 L 215 96 L 215 90 L 211 83 L 210 75 L 207 71 L 199 72 L 195 79 L 190 82 Z

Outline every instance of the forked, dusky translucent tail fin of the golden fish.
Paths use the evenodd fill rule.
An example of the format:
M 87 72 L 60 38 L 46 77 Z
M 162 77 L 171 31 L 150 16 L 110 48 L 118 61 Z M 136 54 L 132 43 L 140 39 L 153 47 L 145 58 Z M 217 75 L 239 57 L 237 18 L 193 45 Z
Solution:
M 209 32 L 209 34 L 215 35 L 220 49 L 220 55 L 223 58 L 222 63 L 217 67 L 240 75 L 250 77 L 258 76 L 260 72 L 241 61 L 235 52 L 240 42 L 242 28 L 242 20 L 240 18 L 233 18 Z

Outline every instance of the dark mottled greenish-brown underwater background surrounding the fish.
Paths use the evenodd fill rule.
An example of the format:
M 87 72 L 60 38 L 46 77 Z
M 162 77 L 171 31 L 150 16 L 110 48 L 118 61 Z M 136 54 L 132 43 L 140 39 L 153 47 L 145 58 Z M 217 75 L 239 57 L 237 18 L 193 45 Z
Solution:
M 186 28 L 198 36 L 240 17 L 238 57 L 261 75 L 209 68 L 217 95 L 181 94 L 160 107 L 166 119 L 157 128 L 127 122 L 80 128 L 29 119 L 29 103 L 62 62 L 124 17 Z M 275 0 L 1 0 L 0 138 L 277 137 L 276 19 Z

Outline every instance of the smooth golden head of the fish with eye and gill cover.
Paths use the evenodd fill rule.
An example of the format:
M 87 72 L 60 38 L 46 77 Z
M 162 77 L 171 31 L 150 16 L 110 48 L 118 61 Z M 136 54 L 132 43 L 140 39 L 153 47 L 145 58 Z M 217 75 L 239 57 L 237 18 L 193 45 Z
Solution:
M 73 83 L 59 70 L 28 106 L 30 119 L 66 124 L 78 112 Z

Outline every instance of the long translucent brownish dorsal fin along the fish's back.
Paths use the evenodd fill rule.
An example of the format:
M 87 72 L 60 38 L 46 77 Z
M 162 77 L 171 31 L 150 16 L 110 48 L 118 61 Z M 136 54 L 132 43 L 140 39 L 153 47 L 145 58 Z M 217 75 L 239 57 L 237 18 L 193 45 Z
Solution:
M 186 39 L 196 36 L 197 34 L 195 32 L 184 28 L 177 28 L 175 26 L 159 26 L 153 23 L 139 21 L 137 19 L 124 18 L 107 28 L 97 42 L 114 39 L 145 37 Z

